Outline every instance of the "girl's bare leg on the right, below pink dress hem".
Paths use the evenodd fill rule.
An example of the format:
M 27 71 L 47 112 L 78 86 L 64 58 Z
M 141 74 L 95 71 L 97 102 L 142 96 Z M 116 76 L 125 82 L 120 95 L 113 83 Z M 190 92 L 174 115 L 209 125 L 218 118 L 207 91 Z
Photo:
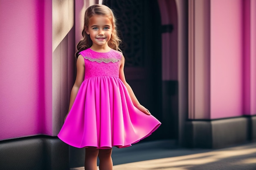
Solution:
M 100 170 L 113 170 L 112 162 L 112 148 L 99 150 L 99 169 Z

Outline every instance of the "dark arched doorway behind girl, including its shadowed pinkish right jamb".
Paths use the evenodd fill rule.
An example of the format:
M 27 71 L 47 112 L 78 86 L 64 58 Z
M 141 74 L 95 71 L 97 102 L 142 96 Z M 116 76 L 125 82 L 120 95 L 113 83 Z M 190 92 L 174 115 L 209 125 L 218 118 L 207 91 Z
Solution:
M 175 4 L 168 2 L 176 11 L 176 20 L 171 22 L 176 23 L 163 24 L 162 2 L 103 0 L 103 4 L 110 7 L 117 17 L 120 37 L 124 42 L 126 80 L 139 102 L 162 122 L 159 129 L 143 141 L 177 139 L 178 136 L 177 36 L 176 39 L 173 36 L 177 11 Z M 165 15 L 169 14 L 172 15 Z M 170 20 L 169 16 L 165 17 Z M 166 35 L 171 40 L 166 40 Z

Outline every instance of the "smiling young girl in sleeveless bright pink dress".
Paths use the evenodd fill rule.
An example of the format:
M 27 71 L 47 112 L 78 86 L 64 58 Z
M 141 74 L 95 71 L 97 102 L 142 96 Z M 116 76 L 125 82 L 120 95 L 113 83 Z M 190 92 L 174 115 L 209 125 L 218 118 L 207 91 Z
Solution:
M 58 137 L 85 148 L 85 170 L 97 170 L 97 157 L 100 170 L 112 170 L 113 146 L 131 146 L 161 123 L 139 104 L 126 82 L 112 11 L 100 4 L 88 7 L 82 34 L 70 107 Z

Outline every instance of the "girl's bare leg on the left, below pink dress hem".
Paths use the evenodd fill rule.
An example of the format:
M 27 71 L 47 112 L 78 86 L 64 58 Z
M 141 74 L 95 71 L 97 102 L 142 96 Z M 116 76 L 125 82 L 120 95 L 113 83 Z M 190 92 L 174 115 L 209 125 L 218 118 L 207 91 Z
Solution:
M 85 170 L 97 170 L 97 157 L 99 149 L 94 147 L 85 148 Z

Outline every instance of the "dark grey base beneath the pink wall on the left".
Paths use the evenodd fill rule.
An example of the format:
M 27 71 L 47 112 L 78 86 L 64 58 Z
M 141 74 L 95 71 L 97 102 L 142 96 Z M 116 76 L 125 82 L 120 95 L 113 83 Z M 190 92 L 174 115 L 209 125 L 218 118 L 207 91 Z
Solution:
M 69 148 L 57 137 L 0 141 L 0 170 L 69 170 Z

